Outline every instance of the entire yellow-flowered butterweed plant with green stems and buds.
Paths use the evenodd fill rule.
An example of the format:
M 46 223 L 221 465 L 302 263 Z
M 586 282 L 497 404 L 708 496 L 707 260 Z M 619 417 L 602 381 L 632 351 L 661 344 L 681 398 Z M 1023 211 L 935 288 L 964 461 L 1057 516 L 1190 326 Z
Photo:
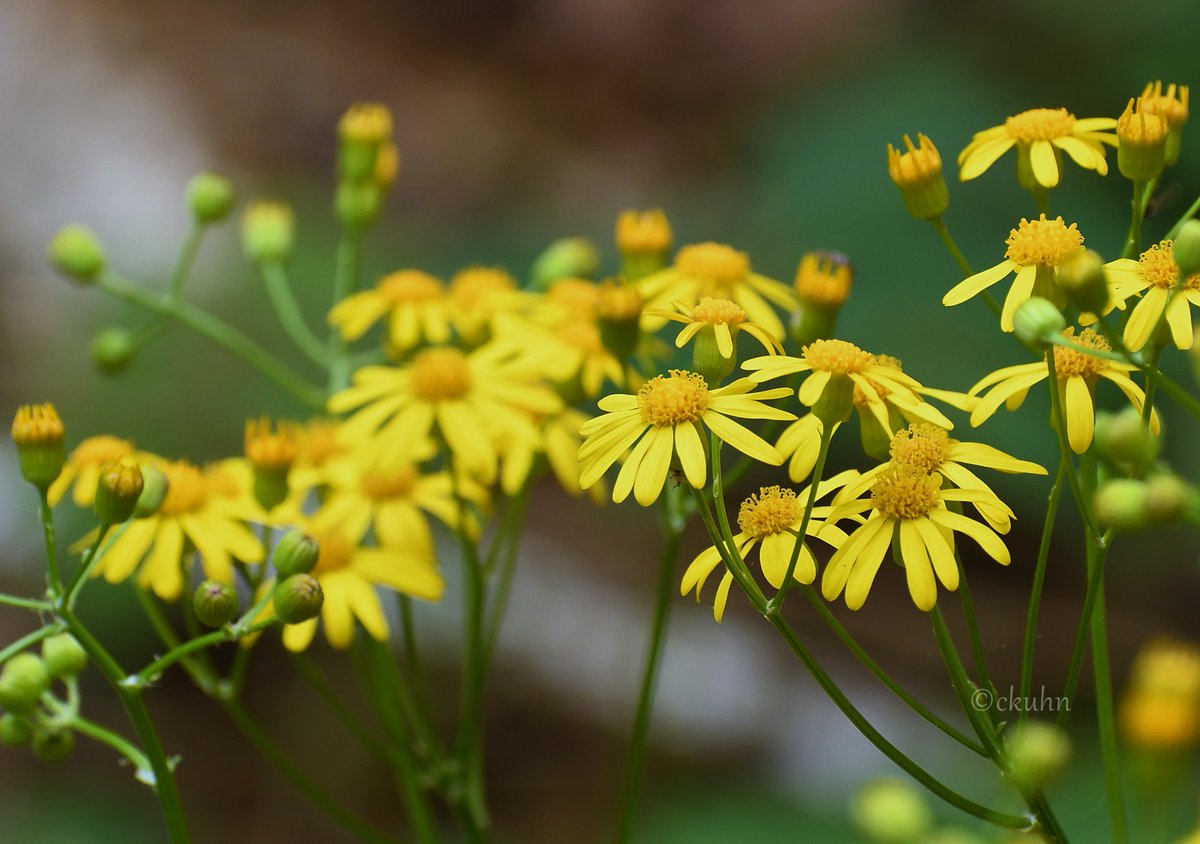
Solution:
M 1117 718 L 1104 601 L 1105 559 L 1126 533 L 1200 522 L 1200 495 L 1159 456 L 1156 409 L 1169 399 L 1200 419 L 1195 391 L 1160 367 L 1164 355 L 1193 347 L 1200 221 L 1192 216 L 1200 200 L 1170 231 L 1142 243 L 1146 206 L 1180 156 L 1187 109 L 1186 86 L 1154 83 L 1120 118 L 1033 108 L 978 132 L 958 158 L 960 179 L 983 175 L 1015 149 L 1018 180 L 1036 209 L 996 221 L 997 251 L 979 259 L 995 262 L 1008 232 L 1006 250 L 980 271 L 946 223 L 949 191 L 934 142 L 918 134 L 917 144 L 906 137 L 902 149 L 888 146 L 887 173 L 904 206 L 934 228 L 960 270 L 956 283 L 925 292 L 926 305 L 936 309 L 938 297 L 949 306 L 982 300 L 996 319 L 995 342 L 1012 358 L 965 391 L 931 385 L 936 372 L 910 372 L 890 349 L 838 336 L 853 280 L 847 257 L 804 255 L 794 283 L 784 283 L 727 244 L 674 249 L 660 210 L 618 216 L 618 271 L 600 281 L 602 256 L 581 239 L 547 247 L 527 283 L 480 265 L 449 281 L 416 268 L 362 279 L 365 235 L 400 168 L 391 114 L 379 104 L 354 106 L 338 124 L 334 209 L 342 238 L 324 328 L 314 328 L 293 295 L 290 208 L 256 200 L 242 213 L 245 255 L 306 359 L 304 372 L 185 295 L 202 240 L 234 213 L 236 194 L 226 179 L 200 174 L 188 185 L 192 228 L 164 289 L 120 275 L 89 229 L 64 228 L 49 251 L 61 274 L 154 317 L 145 330 L 109 329 L 97 337 L 91 352 L 102 370 L 122 370 L 164 328 L 181 325 L 283 387 L 295 406 L 289 419 L 245 421 L 241 455 L 206 466 L 144 451 L 122 431 L 74 438 L 48 403 L 17 411 L 12 437 L 35 492 L 47 587 L 36 597 L 0 595 L 41 622 L 0 652 L 0 740 L 30 744 L 50 761 L 70 755 L 77 736 L 107 744 L 157 797 L 170 839 L 185 842 L 186 800 L 174 771 L 188 762 L 172 754 L 172 737 L 160 735 L 145 702 L 161 677 L 182 671 L 299 795 L 355 837 L 484 840 L 491 831 L 487 675 L 530 490 L 548 475 L 568 495 L 589 493 L 598 504 L 632 497 L 662 515 L 617 840 L 629 838 L 636 818 L 678 591 L 710 600 L 718 622 L 749 604 L 866 740 L 936 797 L 1006 834 L 1066 843 L 1072 819 L 1056 814 L 1045 785 L 1069 764 L 1064 730 L 1073 707 L 1031 719 L 1028 707 L 1002 712 L 980 701 L 996 701 L 1009 687 L 1031 699 L 1050 539 L 1069 490 L 1084 523 L 1086 589 L 1058 700 L 1074 700 L 1090 650 L 1106 786 L 1097 800 L 1108 804 L 1112 840 L 1130 840 L 1118 723 L 1130 753 L 1142 759 L 1200 740 L 1200 657 L 1184 644 L 1148 647 Z M 1111 146 L 1116 169 L 1133 182 L 1133 211 L 1126 243 L 1105 262 L 1103 249 L 1088 249 L 1102 245 L 1085 247 L 1084 233 L 1068 222 L 1072 209 L 1051 198 L 1063 156 L 1099 178 L 1112 169 Z M 1000 304 L 990 291 L 1009 279 Z M 1046 436 L 1060 451 L 1049 473 L 982 442 L 982 431 L 965 432 L 1002 407 L 1018 412 L 1031 390 L 1043 389 L 1052 408 Z M 1098 403 L 1124 408 L 1110 413 Z M 217 412 L 214 424 L 233 441 L 242 420 Z M 830 466 L 830 443 L 853 427 L 870 467 Z M 756 475 L 774 473 L 772 483 L 728 501 L 751 466 Z M 1052 475 L 1032 564 L 1012 565 L 1014 510 L 990 485 L 996 472 Z M 60 543 L 54 511 L 67 499 L 90 509 L 95 527 Z M 680 579 L 684 529 L 696 520 L 707 547 Z M 456 538 L 456 559 L 442 558 L 439 533 Z M 455 704 L 431 699 L 413 613 L 414 600 L 443 599 L 442 570 L 450 564 L 462 569 L 461 607 L 444 609 L 462 625 L 452 729 L 443 713 Z M 912 612 L 929 618 L 961 719 L 936 714 L 907 690 L 830 607 L 844 601 L 869 616 L 884 564 L 904 570 Z M 1009 567 L 1009 577 L 1032 571 L 1015 677 L 989 670 L 972 604 L 970 575 L 989 564 Z M 130 583 L 161 638 L 162 656 L 149 665 L 121 665 L 80 618 L 78 601 L 101 579 Z M 889 741 L 785 615 L 793 593 L 804 599 L 799 611 L 827 624 L 912 714 L 990 761 L 1008 792 L 988 802 L 966 795 Z M 961 605 L 967 660 L 943 616 L 947 601 Z M 178 611 L 168 612 L 172 604 Z M 400 619 L 398 631 L 390 618 Z M 347 736 L 392 770 L 406 831 L 376 828 L 340 804 L 319 772 L 293 762 L 247 708 L 241 693 L 250 656 L 268 636 L 295 654 Z M 359 722 L 305 656 L 317 640 L 356 652 L 374 723 Z M 228 670 L 218 669 L 212 651 L 230 642 L 235 656 Z M 88 670 L 108 681 L 133 737 L 85 718 L 77 678 Z M 854 802 L 857 822 L 876 840 L 930 840 L 931 816 L 896 780 L 869 786 Z

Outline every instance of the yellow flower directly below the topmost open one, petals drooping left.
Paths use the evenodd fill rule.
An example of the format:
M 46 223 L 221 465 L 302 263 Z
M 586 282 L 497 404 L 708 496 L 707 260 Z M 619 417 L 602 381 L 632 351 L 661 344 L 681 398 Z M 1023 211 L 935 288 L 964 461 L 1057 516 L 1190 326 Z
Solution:
M 960 281 L 942 297 L 942 304 L 948 307 L 961 305 L 1016 273 L 1016 279 L 1004 297 L 1004 310 L 1000 317 L 1000 328 L 1012 331 L 1013 315 L 1030 297 L 1045 297 L 1060 305 L 1063 304 L 1064 297 L 1058 289 L 1055 268 L 1064 258 L 1082 251 L 1084 235 L 1075 223 L 1067 226 L 1062 217 L 1048 220 L 1043 214 L 1037 220 L 1022 219 L 1020 225 L 1008 233 L 1006 244 L 1008 249 L 1002 262 Z

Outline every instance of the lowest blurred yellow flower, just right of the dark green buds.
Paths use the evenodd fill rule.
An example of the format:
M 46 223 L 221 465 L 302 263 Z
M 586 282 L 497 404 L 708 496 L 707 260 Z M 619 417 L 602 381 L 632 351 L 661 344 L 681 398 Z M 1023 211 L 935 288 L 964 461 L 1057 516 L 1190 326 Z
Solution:
M 344 650 L 354 641 L 355 621 L 373 639 L 388 640 L 388 619 L 379 605 L 377 586 L 422 600 L 442 599 L 445 581 L 430 550 L 364 547 L 338 531 L 313 531 L 312 535 L 320 547 L 312 576 L 325 594 L 319 619 L 325 627 L 325 639 L 336 648 Z M 271 611 L 268 606 L 264 615 Z M 307 648 L 317 633 L 317 621 L 286 625 L 283 646 L 295 653 Z

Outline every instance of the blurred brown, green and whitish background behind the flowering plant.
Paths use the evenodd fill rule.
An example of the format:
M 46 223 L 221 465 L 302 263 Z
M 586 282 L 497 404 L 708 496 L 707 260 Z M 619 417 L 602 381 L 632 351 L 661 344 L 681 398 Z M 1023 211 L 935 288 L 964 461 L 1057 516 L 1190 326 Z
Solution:
M 238 453 L 248 415 L 300 413 L 184 330 L 161 337 L 120 378 L 94 372 L 91 336 L 143 317 L 56 280 L 44 244 L 60 225 L 84 222 L 104 239 L 114 267 L 161 285 L 186 232 L 182 186 L 191 173 L 215 169 L 245 197 L 296 205 L 293 279 L 316 321 L 328 306 L 337 237 L 332 127 L 359 100 L 392 108 L 403 157 L 389 209 L 367 240 L 371 276 L 404 265 L 448 275 L 472 263 L 520 275 L 551 239 L 575 234 L 608 250 L 612 265 L 616 213 L 661 206 L 679 243 L 731 243 L 773 277 L 790 280 L 811 249 L 848 253 L 856 286 L 841 335 L 901 358 L 926 384 L 966 389 L 1025 358 L 982 306 L 938 304 L 960 276 L 929 227 L 905 215 L 887 179 L 886 144 L 925 132 L 950 162 L 973 132 L 1026 108 L 1115 116 L 1150 79 L 1196 83 L 1198 31 L 1200 8 L 1184 0 L 1111 8 L 1081 0 L 14 0 L 0 8 L 0 405 L 7 414 L 49 400 L 70 442 L 112 432 L 196 461 Z M 1165 180 L 1182 186 L 1181 198 L 1151 221 L 1150 238 L 1200 188 L 1198 138 L 1200 131 L 1186 132 L 1183 160 Z M 1054 210 L 1108 257 L 1118 252 L 1128 217 L 1128 184 L 1112 170 L 1100 179 L 1068 166 L 1051 196 Z M 967 186 L 952 174 L 950 186 L 947 220 L 960 246 L 977 267 L 998 262 L 1008 229 L 1033 213 L 1012 156 Z M 190 294 L 302 366 L 239 256 L 234 226 L 206 243 Z M 1190 378 L 1177 357 L 1169 367 Z M 1120 405 L 1111 393 L 1102 391 L 1102 406 Z M 1194 479 L 1194 437 L 1172 409 L 1166 454 Z M 1052 465 L 1046 418 L 1044 396 L 1033 396 L 979 436 Z M 853 439 L 835 451 L 839 466 L 860 460 Z M 992 670 L 1007 686 L 1016 677 L 1049 483 L 1002 478 L 996 489 L 1018 514 L 1014 563 L 1000 569 L 976 556 L 968 565 Z M 1060 519 L 1038 645 L 1034 684 L 1050 694 L 1062 683 L 1082 594 L 1070 509 Z M 64 519 L 71 537 L 84 527 Z M 2 586 L 36 591 L 34 499 L 11 450 L 0 456 L 0 539 Z M 653 598 L 653 516 L 632 505 L 596 511 L 546 484 L 526 547 L 488 714 L 498 839 L 606 840 Z M 701 547 L 697 534 L 685 552 Z M 1200 636 L 1194 537 L 1168 529 L 1122 540 L 1109 574 L 1120 684 L 1147 636 Z M 100 587 L 85 611 L 133 664 L 152 648 L 130 609 L 124 589 Z M 680 601 L 676 610 L 641 840 L 857 840 L 848 796 L 890 766 L 748 607 L 733 601 L 720 628 L 707 606 Z M 844 664 L 817 619 L 799 606 L 792 612 L 886 734 L 964 790 L 1001 800 L 984 766 L 962 767 L 953 747 Z M 444 648 L 446 683 L 449 613 L 422 612 Z M 896 675 L 958 716 L 926 619 L 898 571 L 884 571 L 865 610 L 841 616 Z M 28 625 L 17 611 L 0 613 L 6 641 Z M 251 707 L 332 791 L 380 824 L 396 822 L 385 772 L 338 731 L 276 645 L 263 651 Z M 316 652 L 349 682 L 347 660 L 323 645 Z M 1085 749 L 1051 798 L 1068 831 L 1090 843 L 1105 839 L 1106 813 L 1086 749 L 1094 746 L 1087 676 L 1081 689 L 1074 729 Z M 85 690 L 85 712 L 124 730 L 107 689 L 91 678 Z M 186 680 L 168 678 L 151 706 L 168 747 L 184 755 L 180 783 L 198 840 L 341 840 Z M 1135 840 L 1189 828 L 1193 768 L 1169 800 L 1134 810 Z M 80 747 L 53 770 L 6 752 L 0 782 L 6 840 L 161 839 L 152 801 L 114 770 L 106 749 Z

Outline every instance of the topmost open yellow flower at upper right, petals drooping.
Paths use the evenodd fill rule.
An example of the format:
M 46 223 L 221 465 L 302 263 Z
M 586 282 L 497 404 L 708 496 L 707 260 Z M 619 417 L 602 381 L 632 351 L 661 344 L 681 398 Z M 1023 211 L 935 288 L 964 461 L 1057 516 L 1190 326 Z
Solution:
M 1062 152 L 1084 169 L 1105 175 L 1109 166 L 1104 144 L 1116 146 L 1117 138 L 1104 130 L 1116 125 L 1115 118 L 1076 120 L 1066 108 L 1031 108 L 1008 118 L 1002 126 L 977 132 L 959 154 L 959 179 L 968 181 L 982 175 L 1013 146 L 1042 187 L 1058 184 Z

